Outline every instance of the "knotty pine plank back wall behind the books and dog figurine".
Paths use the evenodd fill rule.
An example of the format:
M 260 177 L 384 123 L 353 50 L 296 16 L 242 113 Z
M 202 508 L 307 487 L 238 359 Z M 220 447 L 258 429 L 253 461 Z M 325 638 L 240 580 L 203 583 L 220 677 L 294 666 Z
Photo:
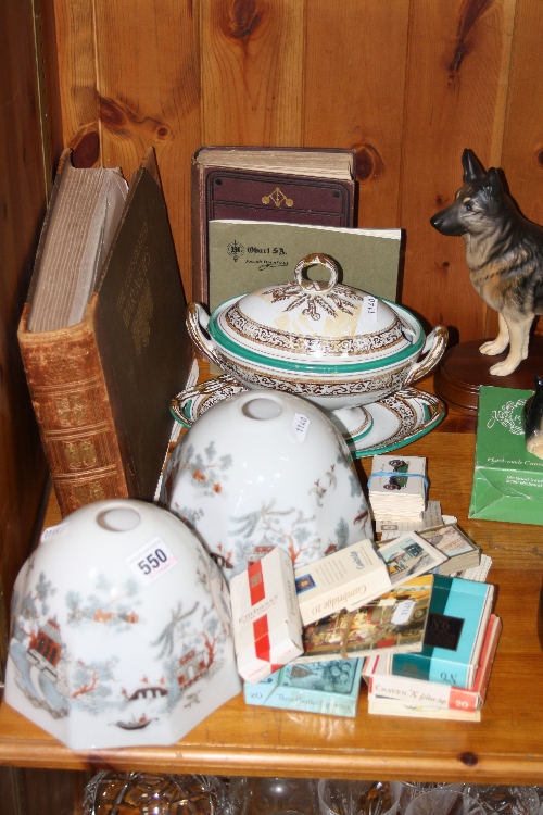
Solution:
M 429 218 L 470 147 L 543 221 L 539 0 L 54 0 L 54 13 L 63 140 L 128 177 L 154 145 L 188 297 L 197 148 L 354 147 L 357 225 L 404 229 L 402 302 L 456 340 L 492 333 L 463 241 Z

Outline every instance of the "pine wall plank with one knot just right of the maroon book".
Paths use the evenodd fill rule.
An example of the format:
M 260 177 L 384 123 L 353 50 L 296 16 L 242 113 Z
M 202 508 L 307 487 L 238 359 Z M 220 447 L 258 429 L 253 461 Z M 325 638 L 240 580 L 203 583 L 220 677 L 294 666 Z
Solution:
M 408 22 L 403 0 L 307 4 L 304 141 L 356 150 L 355 221 L 367 228 L 402 223 Z

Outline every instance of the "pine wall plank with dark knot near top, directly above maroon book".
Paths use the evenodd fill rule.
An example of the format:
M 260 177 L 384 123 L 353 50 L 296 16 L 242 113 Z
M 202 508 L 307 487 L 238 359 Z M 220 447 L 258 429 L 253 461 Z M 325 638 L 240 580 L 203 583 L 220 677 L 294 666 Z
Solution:
M 305 3 L 200 7 L 203 143 L 301 145 Z

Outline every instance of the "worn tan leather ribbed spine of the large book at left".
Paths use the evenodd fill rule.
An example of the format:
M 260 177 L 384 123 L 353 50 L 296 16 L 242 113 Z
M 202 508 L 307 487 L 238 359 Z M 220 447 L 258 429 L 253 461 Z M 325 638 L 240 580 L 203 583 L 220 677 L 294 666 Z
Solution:
M 97 339 L 98 294 L 70 328 L 33 334 L 27 315 L 28 304 L 17 337 L 62 515 L 92 501 L 134 497 Z

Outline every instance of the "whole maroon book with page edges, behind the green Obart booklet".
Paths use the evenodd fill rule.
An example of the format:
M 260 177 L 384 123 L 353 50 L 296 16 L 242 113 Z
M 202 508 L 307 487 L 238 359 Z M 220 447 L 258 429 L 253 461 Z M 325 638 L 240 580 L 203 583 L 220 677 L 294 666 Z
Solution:
M 354 177 L 354 150 L 200 148 L 192 156 L 192 300 L 209 305 L 209 221 L 352 227 Z

